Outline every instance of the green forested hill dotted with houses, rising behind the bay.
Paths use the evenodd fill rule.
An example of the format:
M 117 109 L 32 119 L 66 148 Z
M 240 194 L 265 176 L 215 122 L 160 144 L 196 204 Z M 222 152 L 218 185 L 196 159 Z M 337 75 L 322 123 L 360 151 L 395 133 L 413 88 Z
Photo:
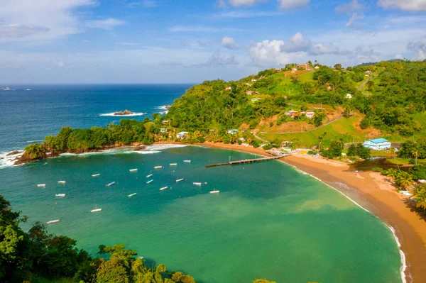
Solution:
M 203 82 L 176 99 L 164 119 L 186 131 L 273 128 L 297 120 L 320 126 L 332 114 L 314 104 L 331 106 L 336 116 L 359 114 L 361 128 L 401 136 L 420 133 L 424 123 L 419 114 L 426 109 L 426 62 L 378 62 L 346 69 L 309 62 L 264 70 L 235 82 Z M 285 111 L 290 109 L 302 114 L 289 118 Z M 316 119 L 304 118 L 310 109 Z

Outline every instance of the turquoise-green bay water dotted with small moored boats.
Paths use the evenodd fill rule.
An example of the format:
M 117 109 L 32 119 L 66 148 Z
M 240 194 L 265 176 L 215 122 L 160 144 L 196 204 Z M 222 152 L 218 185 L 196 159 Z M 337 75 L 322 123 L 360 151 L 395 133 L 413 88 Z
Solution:
M 29 216 L 26 229 L 60 218 L 48 231 L 75 238 L 79 248 L 95 254 L 100 244 L 125 243 L 148 262 L 197 282 L 401 281 L 391 231 L 309 175 L 278 161 L 204 167 L 230 155 L 252 157 L 229 150 L 154 146 L 148 152 L 121 149 L 6 167 L 0 193 Z M 164 168 L 154 170 L 157 165 Z M 151 172 L 154 181 L 146 184 Z M 185 181 L 175 183 L 180 178 Z M 112 181 L 117 184 L 105 187 Z M 213 189 L 220 193 L 209 194 Z M 102 212 L 90 213 L 95 205 Z

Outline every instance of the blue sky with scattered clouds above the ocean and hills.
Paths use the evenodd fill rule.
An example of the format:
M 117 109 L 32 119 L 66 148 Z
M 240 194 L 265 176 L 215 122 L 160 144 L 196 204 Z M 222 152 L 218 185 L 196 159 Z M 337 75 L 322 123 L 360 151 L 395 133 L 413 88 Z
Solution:
M 426 0 L 0 0 L 0 86 L 426 59 Z

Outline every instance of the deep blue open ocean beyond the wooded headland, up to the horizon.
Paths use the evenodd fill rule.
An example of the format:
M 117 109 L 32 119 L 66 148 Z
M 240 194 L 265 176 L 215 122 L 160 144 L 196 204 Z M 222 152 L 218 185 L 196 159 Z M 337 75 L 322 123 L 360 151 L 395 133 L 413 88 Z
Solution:
M 137 120 L 166 111 L 161 106 L 191 84 L 25 85 L 0 91 L 0 152 L 23 149 L 62 126 L 107 126 L 123 117 L 102 116 L 129 109 Z M 31 90 L 26 90 L 31 89 Z M 144 113 L 143 115 L 141 113 Z

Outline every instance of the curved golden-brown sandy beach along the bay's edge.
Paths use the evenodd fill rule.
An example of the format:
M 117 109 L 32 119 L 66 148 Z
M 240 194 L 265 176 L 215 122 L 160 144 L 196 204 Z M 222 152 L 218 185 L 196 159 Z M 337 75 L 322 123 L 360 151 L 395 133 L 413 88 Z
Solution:
M 268 155 L 262 148 L 223 143 L 195 144 Z M 407 282 L 424 282 L 426 278 L 426 221 L 405 204 L 405 196 L 395 191 L 387 177 L 378 172 L 354 172 L 344 162 L 325 160 L 307 155 L 291 155 L 281 161 L 312 174 L 322 182 L 354 199 L 395 230 L 405 254 Z

